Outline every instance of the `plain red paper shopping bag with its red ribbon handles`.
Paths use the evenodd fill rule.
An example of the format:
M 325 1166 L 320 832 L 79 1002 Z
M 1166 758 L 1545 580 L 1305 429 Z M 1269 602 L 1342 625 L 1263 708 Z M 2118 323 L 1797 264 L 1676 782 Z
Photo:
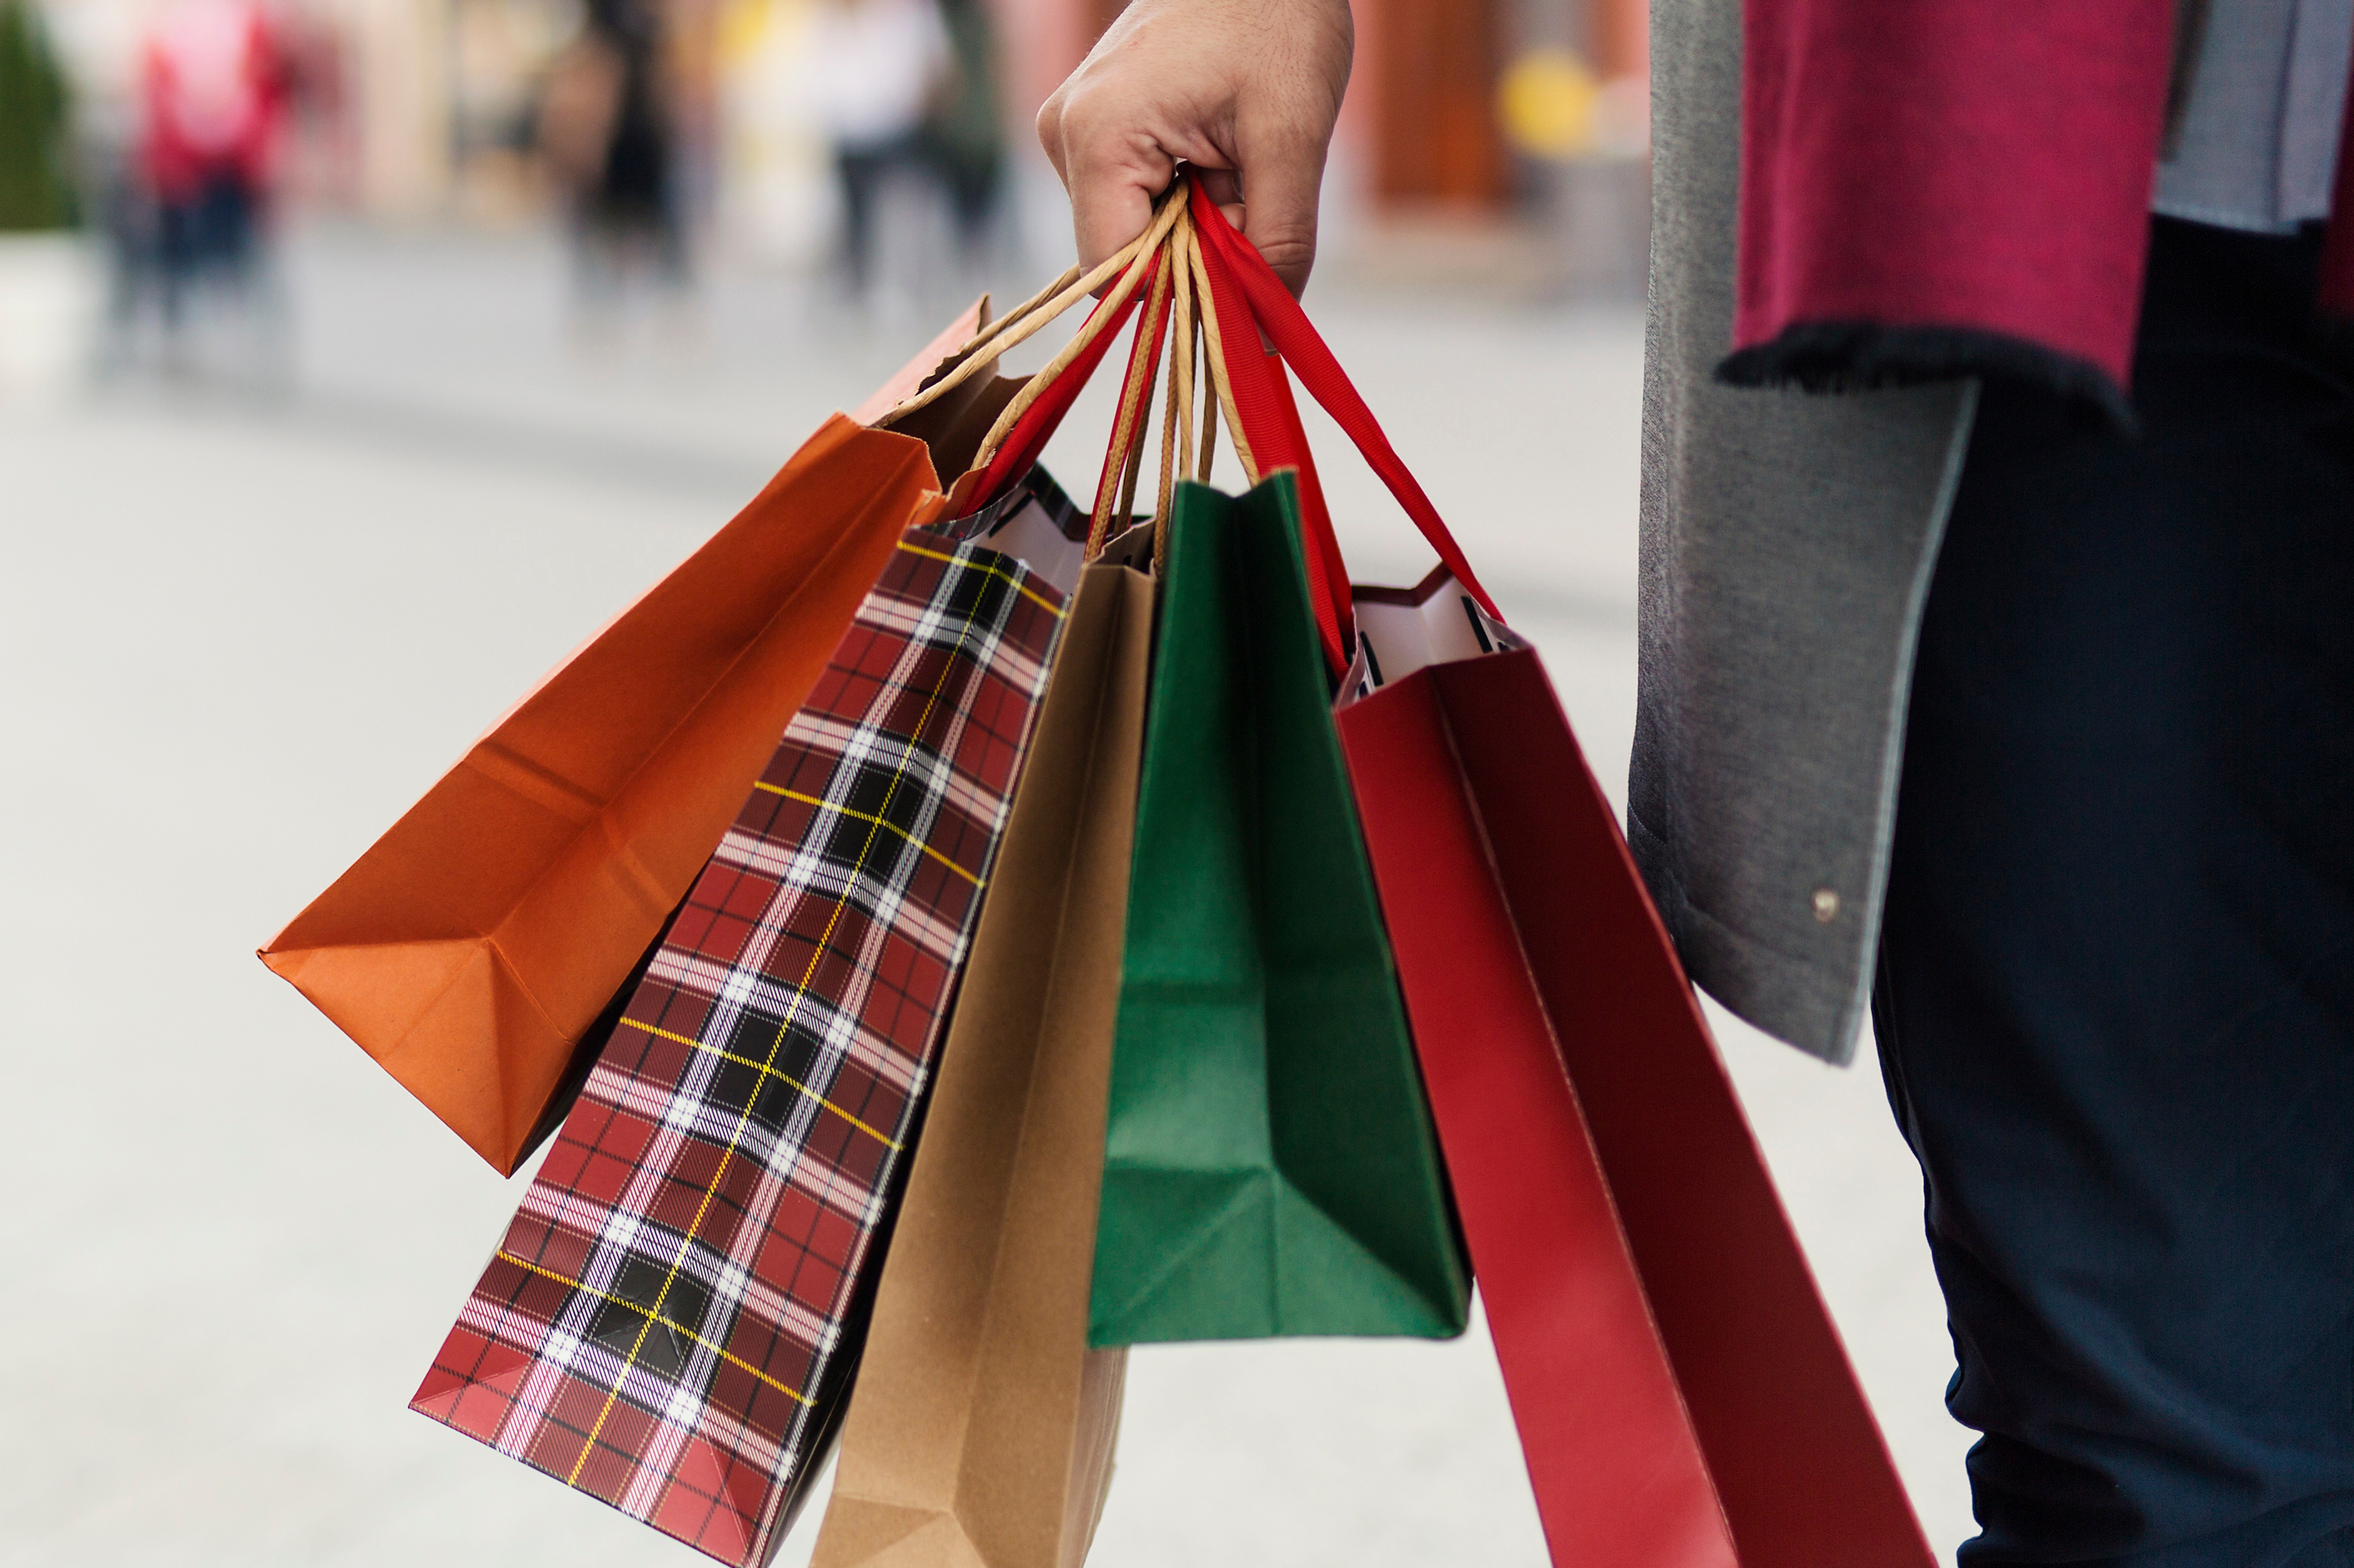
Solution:
M 1198 193 L 1193 216 L 1236 418 L 1302 470 L 1318 616 L 1354 658 L 1342 748 L 1554 1561 L 1928 1568 L 1537 654 L 1283 284 Z M 1259 329 L 1274 353 L 1236 355 Z M 1419 590 L 1349 597 L 1285 362 L 1438 550 Z

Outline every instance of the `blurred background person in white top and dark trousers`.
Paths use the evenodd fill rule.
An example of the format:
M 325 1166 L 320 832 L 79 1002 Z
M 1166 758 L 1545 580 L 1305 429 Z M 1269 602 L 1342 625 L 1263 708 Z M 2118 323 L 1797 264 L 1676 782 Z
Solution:
M 843 190 L 843 273 L 873 282 L 876 197 L 902 172 L 923 172 L 925 115 L 949 78 L 937 0 L 822 0 L 810 40 L 810 99 L 833 143 Z

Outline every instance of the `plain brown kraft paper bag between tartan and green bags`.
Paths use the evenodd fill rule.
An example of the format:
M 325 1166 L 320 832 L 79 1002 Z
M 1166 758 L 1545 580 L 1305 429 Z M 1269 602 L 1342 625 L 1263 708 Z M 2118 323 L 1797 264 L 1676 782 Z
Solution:
M 1123 1349 L 1088 1279 L 1151 581 L 1088 567 L 883 1265 L 817 1568 L 1076 1568 Z

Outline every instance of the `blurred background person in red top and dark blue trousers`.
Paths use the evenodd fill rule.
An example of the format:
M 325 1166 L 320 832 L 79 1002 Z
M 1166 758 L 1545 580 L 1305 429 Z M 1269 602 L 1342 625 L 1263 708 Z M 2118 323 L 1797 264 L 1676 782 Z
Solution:
M 287 75 L 257 0 L 172 0 L 141 49 L 139 172 L 155 282 L 177 334 L 198 287 L 254 303 Z

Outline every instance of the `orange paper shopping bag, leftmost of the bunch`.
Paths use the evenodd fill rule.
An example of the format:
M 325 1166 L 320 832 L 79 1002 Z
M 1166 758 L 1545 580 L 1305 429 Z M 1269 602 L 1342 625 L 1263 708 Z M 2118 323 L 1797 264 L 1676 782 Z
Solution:
M 932 423 L 960 433 L 986 393 Z M 553 1131 L 600 1044 L 584 1037 L 939 489 L 920 435 L 829 418 L 261 950 L 501 1173 Z

